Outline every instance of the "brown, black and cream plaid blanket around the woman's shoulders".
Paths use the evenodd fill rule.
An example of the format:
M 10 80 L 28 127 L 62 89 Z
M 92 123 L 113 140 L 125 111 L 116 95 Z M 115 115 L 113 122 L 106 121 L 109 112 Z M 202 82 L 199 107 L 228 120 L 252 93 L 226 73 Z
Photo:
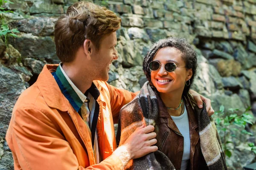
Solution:
M 154 131 L 158 133 L 158 127 L 155 123 L 159 112 L 157 97 L 160 96 L 148 82 L 145 82 L 140 94 L 121 109 L 119 114 L 121 136 L 120 139 L 117 138 L 119 145 L 122 145 L 131 133 L 143 124 L 154 125 Z M 208 116 L 205 105 L 203 109 L 199 109 L 193 97 L 190 94 L 187 97 L 189 97 L 197 114 L 201 150 L 209 170 L 227 170 L 221 140 L 213 119 Z M 157 150 L 140 159 L 129 161 L 125 169 L 175 170 L 175 167 L 164 153 Z

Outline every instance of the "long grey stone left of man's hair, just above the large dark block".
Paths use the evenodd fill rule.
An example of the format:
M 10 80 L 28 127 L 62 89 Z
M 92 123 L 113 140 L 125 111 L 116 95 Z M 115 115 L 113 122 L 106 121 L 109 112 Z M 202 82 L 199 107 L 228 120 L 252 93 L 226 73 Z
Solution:
M 57 18 L 35 17 L 33 19 L 23 19 L 17 21 L 17 28 L 20 32 L 32 33 L 33 35 L 50 36 L 53 35 L 54 25 Z

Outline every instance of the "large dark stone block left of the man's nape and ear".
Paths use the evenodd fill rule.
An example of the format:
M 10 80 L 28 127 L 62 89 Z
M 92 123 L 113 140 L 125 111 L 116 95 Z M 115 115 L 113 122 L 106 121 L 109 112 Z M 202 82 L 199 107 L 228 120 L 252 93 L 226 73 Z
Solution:
M 36 37 L 31 34 L 22 34 L 17 38 L 10 38 L 10 44 L 20 51 L 23 57 L 46 58 L 59 63 L 55 51 L 55 43 L 50 37 Z

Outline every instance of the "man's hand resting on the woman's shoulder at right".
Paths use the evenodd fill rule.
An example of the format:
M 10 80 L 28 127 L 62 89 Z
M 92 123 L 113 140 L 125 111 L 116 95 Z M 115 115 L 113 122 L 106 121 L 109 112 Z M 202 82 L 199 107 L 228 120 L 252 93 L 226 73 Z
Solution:
M 198 108 L 203 108 L 203 102 L 206 105 L 206 110 L 208 113 L 208 116 L 212 116 L 214 114 L 214 110 L 212 109 L 211 100 L 202 96 L 201 94 L 198 94 L 196 91 L 189 90 L 189 93 L 194 97 L 195 101 L 198 104 Z

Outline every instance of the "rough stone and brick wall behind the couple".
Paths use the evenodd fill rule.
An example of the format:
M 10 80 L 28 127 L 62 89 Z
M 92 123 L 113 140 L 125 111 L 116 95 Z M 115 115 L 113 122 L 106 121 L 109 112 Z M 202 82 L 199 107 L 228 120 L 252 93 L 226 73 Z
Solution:
M 12 154 L 4 136 L 12 108 L 22 91 L 32 85 L 46 63 L 58 63 L 54 23 L 78 0 L 11 0 L 4 14 L 17 38 L 6 47 L 0 41 L 0 170 L 12 170 Z M 92 2 L 92 0 L 91 0 Z M 218 111 L 252 106 L 256 115 L 256 0 L 94 0 L 122 18 L 117 31 L 119 59 L 111 65 L 109 83 L 130 91 L 145 82 L 143 57 L 152 43 L 169 36 L 185 37 L 198 53 L 193 89 L 212 99 Z M 255 161 L 241 137 L 227 160 L 230 169 Z

